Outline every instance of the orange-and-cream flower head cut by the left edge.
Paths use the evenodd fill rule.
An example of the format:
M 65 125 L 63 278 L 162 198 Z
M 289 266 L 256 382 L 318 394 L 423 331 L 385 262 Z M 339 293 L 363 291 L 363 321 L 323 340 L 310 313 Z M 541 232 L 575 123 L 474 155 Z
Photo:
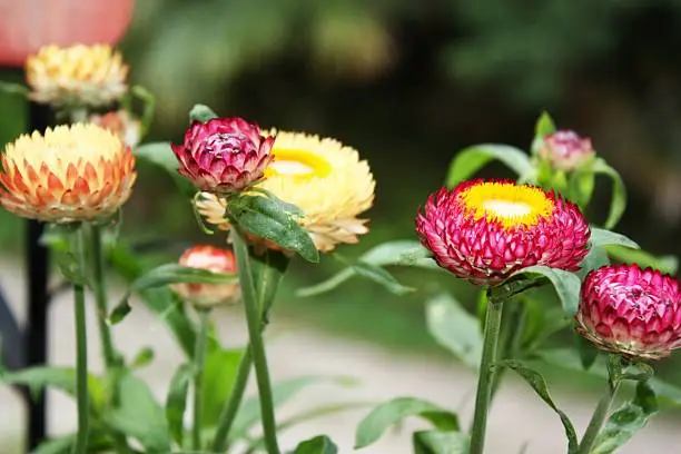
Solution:
M 51 223 L 112 215 L 130 197 L 137 177 L 130 149 L 90 124 L 23 135 L 0 159 L 0 205 Z

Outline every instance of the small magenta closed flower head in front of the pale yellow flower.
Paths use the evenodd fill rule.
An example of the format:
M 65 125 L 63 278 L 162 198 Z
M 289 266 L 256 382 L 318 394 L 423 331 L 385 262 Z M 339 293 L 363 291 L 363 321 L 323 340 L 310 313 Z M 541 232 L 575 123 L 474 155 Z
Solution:
M 172 145 L 180 175 L 208 193 L 241 191 L 263 178 L 272 162 L 275 135 L 241 118 L 195 121 L 182 145 Z

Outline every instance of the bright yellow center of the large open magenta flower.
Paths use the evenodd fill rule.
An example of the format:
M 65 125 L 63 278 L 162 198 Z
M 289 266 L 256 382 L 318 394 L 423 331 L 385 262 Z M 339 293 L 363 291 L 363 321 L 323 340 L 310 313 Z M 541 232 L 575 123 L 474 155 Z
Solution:
M 531 186 L 507 182 L 483 182 L 461 194 L 464 205 L 475 219 L 500 221 L 504 228 L 533 226 L 551 216 L 554 204 L 546 194 Z

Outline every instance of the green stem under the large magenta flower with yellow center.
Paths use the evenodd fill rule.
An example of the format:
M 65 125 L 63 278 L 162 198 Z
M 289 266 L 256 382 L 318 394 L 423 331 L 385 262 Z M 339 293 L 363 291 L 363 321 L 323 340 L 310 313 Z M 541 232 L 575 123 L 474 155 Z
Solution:
M 485 444 L 485 428 L 487 413 L 492 401 L 492 384 L 494 379 L 493 363 L 496 359 L 496 346 L 501 327 L 503 298 L 490 294 L 485 315 L 485 329 L 483 337 L 483 353 L 475 395 L 475 414 L 471 430 L 470 454 L 482 454 Z

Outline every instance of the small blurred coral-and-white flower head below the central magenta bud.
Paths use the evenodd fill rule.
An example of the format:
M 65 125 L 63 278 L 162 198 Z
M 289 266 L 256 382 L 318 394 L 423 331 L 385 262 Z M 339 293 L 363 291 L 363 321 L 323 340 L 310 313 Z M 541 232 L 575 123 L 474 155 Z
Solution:
M 237 265 L 234 253 L 213 246 L 194 246 L 179 258 L 182 266 L 207 269 L 213 273 L 236 274 Z M 172 290 L 184 300 L 197 307 L 215 307 L 235 303 L 240 297 L 238 283 L 231 284 L 174 284 Z

